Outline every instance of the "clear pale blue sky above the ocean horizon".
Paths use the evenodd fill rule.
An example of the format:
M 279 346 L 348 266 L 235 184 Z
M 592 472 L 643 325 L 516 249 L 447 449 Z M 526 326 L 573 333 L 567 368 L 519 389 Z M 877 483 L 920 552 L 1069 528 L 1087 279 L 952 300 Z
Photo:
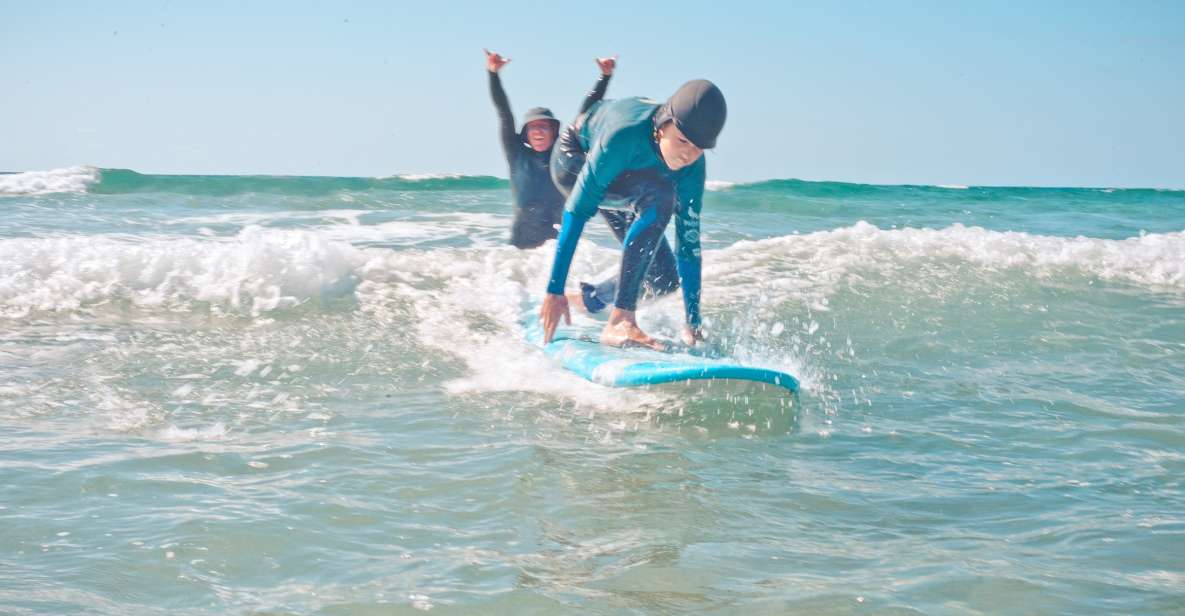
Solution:
M 0 0 L 0 169 L 505 177 L 518 114 L 724 90 L 709 178 L 1185 187 L 1185 2 Z

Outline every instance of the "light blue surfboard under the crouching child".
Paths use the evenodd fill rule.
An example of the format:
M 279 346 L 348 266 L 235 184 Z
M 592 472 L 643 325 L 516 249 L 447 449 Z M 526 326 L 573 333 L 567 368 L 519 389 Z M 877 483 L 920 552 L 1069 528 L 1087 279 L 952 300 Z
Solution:
M 674 347 L 655 351 L 643 347 L 611 347 L 600 344 L 590 333 L 561 327 L 551 342 L 543 344 L 538 317 L 525 319 L 527 340 L 543 348 L 564 368 L 601 385 L 638 387 L 693 381 L 742 381 L 773 385 L 789 393 L 799 380 L 782 371 L 750 366 L 726 357 L 711 357 L 696 348 Z M 764 389 L 764 387 L 762 387 Z

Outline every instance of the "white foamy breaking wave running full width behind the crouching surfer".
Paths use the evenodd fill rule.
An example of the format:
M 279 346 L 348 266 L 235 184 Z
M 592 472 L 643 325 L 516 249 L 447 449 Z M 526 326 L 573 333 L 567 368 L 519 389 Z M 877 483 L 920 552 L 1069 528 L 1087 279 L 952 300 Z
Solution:
M 457 226 L 473 231 L 501 224 L 489 214 L 451 216 L 454 219 L 442 217 L 429 223 L 334 225 L 332 230 L 250 226 L 229 238 L 0 239 L 0 316 L 72 312 L 111 302 L 166 310 L 209 306 L 216 313 L 261 315 L 350 295 L 359 283 L 389 287 L 410 282 L 422 287 L 416 281 L 429 278 L 433 282 L 428 287 L 435 287 L 431 293 L 437 299 L 448 296 L 453 303 L 444 319 L 465 312 L 493 312 L 504 326 L 517 323 L 523 301 L 533 299 L 533 291 L 544 285 L 552 244 L 534 251 L 480 244 L 391 251 L 352 244 L 359 239 L 451 237 Z M 476 219 L 460 220 L 456 216 Z M 616 265 L 620 258 L 616 250 L 585 246 L 572 264 L 572 281 L 597 280 L 600 270 Z M 1185 231 L 1101 239 L 1000 232 L 959 224 L 941 230 L 882 230 L 860 222 L 832 231 L 739 242 L 709 251 L 704 275 L 710 293 L 705 301 L 776 291 L 801 296 L 813 309 L 826 310 L 831 284 L 850 272 L 901 268 L 912 262 L 941 265 L 939 262 L 949 259 L 987 271 L 1010 269 L 1038 277 L 1076 271 L 1104 281 L 1185 288 Z M 658 310 L 648 313 L 643 316 L 651 323 L 678 334 L 679 302 L 660 302 Z M 430 314 L 428 317 L 433 319 Z M 454 328 L 442 327 L 449 329 Z

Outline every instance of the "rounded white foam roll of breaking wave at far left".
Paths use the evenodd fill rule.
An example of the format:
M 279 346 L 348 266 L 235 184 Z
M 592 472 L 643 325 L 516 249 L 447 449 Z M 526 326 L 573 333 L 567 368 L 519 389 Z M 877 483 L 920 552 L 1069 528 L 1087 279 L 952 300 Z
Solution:
M 366 259 L 361 250 L 315 232 L 260 227 L 229 239 L 2 239 L 0 316 L 121 301 L 258 315 L 348 293 Z

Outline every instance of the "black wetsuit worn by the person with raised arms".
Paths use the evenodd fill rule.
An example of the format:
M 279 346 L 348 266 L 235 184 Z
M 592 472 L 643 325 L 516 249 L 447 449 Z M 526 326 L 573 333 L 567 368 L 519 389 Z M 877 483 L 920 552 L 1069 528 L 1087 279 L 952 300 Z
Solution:
M 608 88 L 609 76 L 602 75 L 581 105 L 581 113 L 603 98 Z M 497 72 L 489 72 L 489 96 L 498 110 L 502 150 L 506 152 L 506 162 L 510 166 L 511 198 L 514 200 L 511 244 L 520 249 L 536 248 L 556 237 L 556 230 L 563 217 L 564 195 L 551 181 L 549 169 L 555 146 L 546 152 L 536 152 L 526 142 L 526 123 L 532 120 L 550 120 L 558 137 L 559 121 L 555 120 L 551 111 L 537 108 L 527 113 L 523 128 L 515 130 L 511 103 L 506 98 L 506 91 Z

